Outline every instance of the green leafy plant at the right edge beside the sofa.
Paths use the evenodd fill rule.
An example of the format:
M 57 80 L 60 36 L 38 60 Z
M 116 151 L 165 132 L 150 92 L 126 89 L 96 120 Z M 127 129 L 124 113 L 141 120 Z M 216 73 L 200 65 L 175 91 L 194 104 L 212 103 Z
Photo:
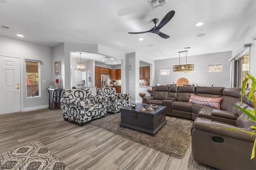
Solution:
M 249 131 L 244 131 L 242 129 L 236 129 L 236 128 L 227 128 L 227 129 L 235 129 L 235 130 L 239 130 L 239 131 L 243 131 L 244 133 L 249 133 L 251 134 L 251 136 L 253 137 L 253 135 L 256 135 L 256 79 L 254 78 L 254 76 L 251 76 L 250 74 L 247 73 L 248 78 L 245 78 L 244 81 L 242 82 L 242 95 L 241 95 L 241 102 L 242 102 L 242 98 L 243 96 L 245 96 L 245 89 L 247 86 L 247 83 L 249 80 L 252 81 L 251 83 L 251 88 L 250 88 L 250 93 L 248 96 L 246 96 L 246 98 L 248 100 L 250 100 L 250 102 L 252 102 L 254 109 L 243 109 L 242 107 L 239 107 L 237 105 L 234 104 L 234 106 L 236 106 L 238 109 L 240 109 L 242 112 L 244 112 L 249 118 L 243 118 L 240 117 L 239 119 L 246 119 L 248 121 L 252 121 L 255 124 L 253 126 L 251 126 L 251 129 L 253 131 L 249 132 Z M 252 155 L 251 155 L 251 159 L 254 158 L 255 155 L 255 147 L 256 147 L 256 137 L 254 140 L 254 145 L 252 147 Z

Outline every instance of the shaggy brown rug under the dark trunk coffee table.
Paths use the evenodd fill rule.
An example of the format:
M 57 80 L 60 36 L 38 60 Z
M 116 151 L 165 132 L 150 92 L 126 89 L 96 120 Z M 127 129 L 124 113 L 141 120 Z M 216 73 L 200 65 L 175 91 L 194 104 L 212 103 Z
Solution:
M 178 159 L 185 156 L 190 145 L 190 127 L 193 121 L 166 116 L 167 124 L 152 137 L 146 133 L 120 127 L 120 120 L 120 113 L 116 113 L 90 123 Z

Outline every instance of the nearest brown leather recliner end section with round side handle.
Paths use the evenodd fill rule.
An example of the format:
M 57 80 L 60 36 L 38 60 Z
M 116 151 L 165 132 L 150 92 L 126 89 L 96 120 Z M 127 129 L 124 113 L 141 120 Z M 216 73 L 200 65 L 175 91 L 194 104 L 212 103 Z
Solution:
M 256 135 L 238 130 L 251 132 L 255 124 L 243 117 L 248 118 L 244 113 L 238 119 L 223 112 L 199 113 L 191 127 L 194 160 L 219 169 L 256 169 L 255 158 L 250 160 Z

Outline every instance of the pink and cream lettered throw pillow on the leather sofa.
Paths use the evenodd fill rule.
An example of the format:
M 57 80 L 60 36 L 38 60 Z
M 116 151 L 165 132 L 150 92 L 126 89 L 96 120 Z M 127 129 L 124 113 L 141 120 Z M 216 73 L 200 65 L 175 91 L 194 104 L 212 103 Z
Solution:
M 207 98 L 207 97 L 196 96 L 194 94 L 191 94 L 188 102 L 193 103 L 193 104 L 200 104 L 200 105 L 205 105 L 205 106 L 210 106 L 210 107 L 220 109 L 221 100 L 222 100 L 222 98 Z

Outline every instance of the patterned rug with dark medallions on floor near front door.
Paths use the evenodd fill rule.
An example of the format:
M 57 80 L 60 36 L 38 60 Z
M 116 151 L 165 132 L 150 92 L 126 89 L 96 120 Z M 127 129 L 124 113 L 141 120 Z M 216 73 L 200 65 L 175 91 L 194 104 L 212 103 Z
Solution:
M 0 162 L 3 170 L 70 170 L 40 141 L 1 153 Z

